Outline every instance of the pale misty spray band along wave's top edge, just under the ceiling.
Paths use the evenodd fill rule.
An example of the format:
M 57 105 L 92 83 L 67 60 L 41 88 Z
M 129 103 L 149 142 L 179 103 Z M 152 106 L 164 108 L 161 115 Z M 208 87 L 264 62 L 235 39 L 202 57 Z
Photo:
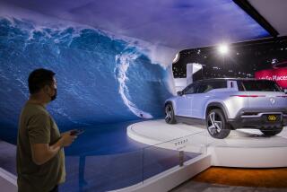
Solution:
M 172 59 L 178 53 L 178 50 L 174 48 L 168 48 L 157 43 L 148 42 L 143 39 L 136 39 L 122 35 L 123 33 L 120 31 L 120 29 L 115 29 L 114 31 L 117 31 L 117 34 L 115 34 L 114 31 L 111 32 L 100 28 L 95 28 L 94 26 L 88 24 L 61 20 L 56 17 L 48 16 L 47 14 L 44 15 L 6 3 L 0 3 L 0 16 L 4 16 L 7 19 L 22 18 L 24 20 L 28 20 L 35 24 L 35 31 L 42 31 L 43 28 L 47 27 L 63 31 L 69 27 L 73 27 L 73 29 L 76 31 L 75 35 L 79 34 L 79 31 L 83 29 L 91 29 L 93 31 L 104 34 L 111 39 L 123 39 L 130 43 L 132 46 L 140 48 L 140 50 L 143 51 L 143 53 L 145 53 L 151 59 L 152 64 L 158 64 L 164 68 L 171 65 Z

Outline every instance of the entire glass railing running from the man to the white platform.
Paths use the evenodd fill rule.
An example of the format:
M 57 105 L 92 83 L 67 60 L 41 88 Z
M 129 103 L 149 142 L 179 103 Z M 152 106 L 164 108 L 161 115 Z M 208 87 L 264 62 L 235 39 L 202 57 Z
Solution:
M 170 169 L 206 153 L 206 131 L 147 145 L 140 150 L 109 155 L 66 157 L 63 191 L 109 191 L 140 186 Z

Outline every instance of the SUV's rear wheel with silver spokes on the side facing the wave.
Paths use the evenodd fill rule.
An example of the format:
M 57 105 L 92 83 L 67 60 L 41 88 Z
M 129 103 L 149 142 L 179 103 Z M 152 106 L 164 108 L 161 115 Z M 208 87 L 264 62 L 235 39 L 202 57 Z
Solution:
M 209 135 L 216 139 L 224 139 L 230 135 L 230 125 L 226 122 L 222 109 L 212 109 L 206 117 Z

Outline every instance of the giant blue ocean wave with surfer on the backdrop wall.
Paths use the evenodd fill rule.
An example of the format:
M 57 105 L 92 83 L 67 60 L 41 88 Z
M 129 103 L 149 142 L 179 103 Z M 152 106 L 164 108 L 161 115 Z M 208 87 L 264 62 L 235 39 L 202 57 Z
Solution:
M 83 26 L 0 17 L 0 138 L 15 144 L 28 75 L 39 67 L 57 73 L 48 110 L 61 130 L 162 117 L 170 69 L 135 44 Z

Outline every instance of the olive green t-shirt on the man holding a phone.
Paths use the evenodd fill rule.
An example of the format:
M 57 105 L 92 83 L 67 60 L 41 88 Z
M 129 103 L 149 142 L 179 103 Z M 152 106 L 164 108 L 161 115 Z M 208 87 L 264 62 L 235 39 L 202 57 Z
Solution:
M 46 192 L 65 182 L 65 154 L 62 148 L 42 165 L 32 161 L 30 144 L 55 144 L 60 133 L 47 109 L 27 102 L 22 109 L 17 140 L 18 191 Z

